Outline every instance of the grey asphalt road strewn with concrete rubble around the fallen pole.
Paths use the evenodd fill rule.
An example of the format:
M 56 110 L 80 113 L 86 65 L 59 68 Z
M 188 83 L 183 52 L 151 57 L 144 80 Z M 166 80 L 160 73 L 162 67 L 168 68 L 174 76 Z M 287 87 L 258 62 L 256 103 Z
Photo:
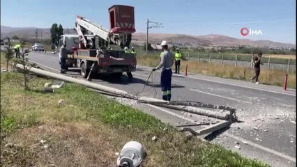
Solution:
M 31 61 L 44 65 L 48 70 L 59 72 L 58 56 L 43 52 L 31 52 Z M 148 75 L 149 67 L 137 67 L 133 73 L 134 81 L 128 77 L 120 80 L 93 79 L 94 83 L 125 90 L 129 93 L 139 93 Z M 77 75 L 75 69 L 68 74 Z M 155 88 L 153 81 L 144 89 L 143 95 L 161 98 L 160 72 L 155 72 Z M 241 152 L 241 154 L 266 161 L 272 166 L 296 165 L 296 90 L 287 91 L 277 86 L 256 85 L 246 81 L 206 77 L 197 74 L 174 74 L 172 78 L 172 100 L 190 100 L 207 104 L 231 106 L 237 110 L 241 122 L 234 123 L 228 129 L 218 132 L 208 138 L 213 143 L 220 143 L 226 148 Z M 122 102 L 125 102 L 122 100 Z M 186 116 L 179 111 L 163 109 L 156 106 L 128 102 L 144 112 L 160 118 L 172 125 L 196 122 L 201 118 Z M 241 150 L 234 148 L 239 142 Z

